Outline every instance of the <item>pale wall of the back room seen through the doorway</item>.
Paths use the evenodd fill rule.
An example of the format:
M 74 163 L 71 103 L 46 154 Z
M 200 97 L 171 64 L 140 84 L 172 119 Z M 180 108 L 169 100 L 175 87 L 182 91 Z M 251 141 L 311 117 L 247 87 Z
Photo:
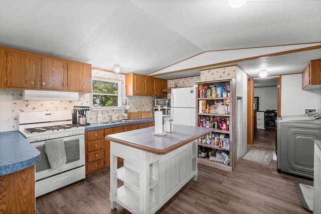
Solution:
M 254 97 L 259 97 L 259 111 L 277 110 L 277 87 L 254 88 Z

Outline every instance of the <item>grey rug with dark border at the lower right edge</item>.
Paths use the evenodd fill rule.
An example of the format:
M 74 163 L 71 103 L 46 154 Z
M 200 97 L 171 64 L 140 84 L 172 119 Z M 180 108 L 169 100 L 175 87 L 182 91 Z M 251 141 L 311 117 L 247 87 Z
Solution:
M 295 189 L 304 209 L 313 211 L 313 186 L 294 180 Z

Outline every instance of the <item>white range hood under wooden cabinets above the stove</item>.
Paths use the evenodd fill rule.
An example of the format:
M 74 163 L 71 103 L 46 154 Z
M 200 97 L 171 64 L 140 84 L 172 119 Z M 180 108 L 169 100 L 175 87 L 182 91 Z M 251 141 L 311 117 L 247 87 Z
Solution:
M 23 100 L 79 100 L 78 92 L 23 90 Z

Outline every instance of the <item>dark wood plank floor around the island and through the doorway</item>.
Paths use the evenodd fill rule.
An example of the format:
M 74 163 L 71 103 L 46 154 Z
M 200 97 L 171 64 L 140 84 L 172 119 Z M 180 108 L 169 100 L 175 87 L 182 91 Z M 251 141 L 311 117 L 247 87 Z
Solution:
M 263 137 L 267 136 L 267 137 Z M 259 130 L 249 146 L 274 150 L 272 132 Z M 311 180 L 278 173 L 269 165 L 240 158 L 233 172 L 198 165 L 199 172 L 156 213 L 309 213 L 297 196 L 294 180 Z M 129 213 L 117 205 L 110 209 L 109 170 L 36 198 L 36 213 Z

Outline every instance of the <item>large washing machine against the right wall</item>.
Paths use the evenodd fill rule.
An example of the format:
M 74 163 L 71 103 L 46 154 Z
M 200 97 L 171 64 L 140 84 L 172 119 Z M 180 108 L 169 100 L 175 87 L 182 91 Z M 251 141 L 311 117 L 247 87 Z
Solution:
M 321 115 L 311 116 L 305 120 L 292 117 L 292 120 L 277 121 L 279 172 L 313 178 L 314 140 L 321 140 Z

